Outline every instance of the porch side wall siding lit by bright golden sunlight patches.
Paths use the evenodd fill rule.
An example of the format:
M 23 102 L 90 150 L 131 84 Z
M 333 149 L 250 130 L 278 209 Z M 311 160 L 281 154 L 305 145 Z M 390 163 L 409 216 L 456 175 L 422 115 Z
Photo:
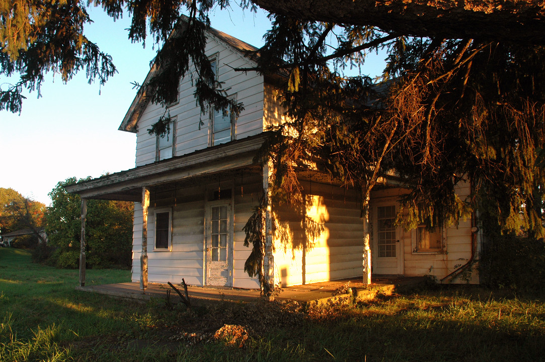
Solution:
M 274 209 L 275 278 L 288 286 L 361 275 L 360 205 L 344 202 L 345 195 L 355 200 L 356 193 L 316 182 L 302 182 L 302 186 L 307 194 L 307 216 L 317 222 L 320 231 L 307 236 L 310 233 L 301 228 L 293 210 Z

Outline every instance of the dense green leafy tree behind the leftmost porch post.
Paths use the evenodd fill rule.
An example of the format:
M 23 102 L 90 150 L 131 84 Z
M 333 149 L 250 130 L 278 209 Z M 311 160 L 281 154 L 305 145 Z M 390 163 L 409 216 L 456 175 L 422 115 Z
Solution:
M 47 208 L 46 232 L 49 245 L 56 250 L 50 262 L 57 267 L 76 268 L 80 257 L 81 198 L 69 194 L 64 186 L 75 177 L 57 183 Z M 127 201 L 88 200 L 86 256 L 90 268 L 129 267 L 131 265 L 132 216 L 134 205 Z

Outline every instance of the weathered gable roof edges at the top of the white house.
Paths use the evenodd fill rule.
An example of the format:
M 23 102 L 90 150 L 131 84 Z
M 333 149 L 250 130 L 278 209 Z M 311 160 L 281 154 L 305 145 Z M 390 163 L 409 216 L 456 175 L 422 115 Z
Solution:
M 183 20 L 185 21 L 186 19 L 187 17 L 183 16 Z M 205 30 L 205 32 L 208 35 L 207 38 L 210 36 L 211 38 L 222 42 L 228 48 L 231 48 L 233 52 L 237 52 L 241 54 L 241 56 L 249 59 L 252 63 L 255 63 L 255 60 L 258 57 L 257 47 L 237 39 L 234 36 L 220 32 L 220 30 L 214 28 L 208 28 Z M 152 68 L 149 70 L 144 83 L 142 84 L 146 84 L 158 70 L 158 67 L 154 63 Z M 142 115 L 144 109 L 146 109 L 147 105 L 148 97 L 146 91 L 138 91 L 118 129 L 120 131 L 136 133 L 136 124 L 138 123 L 138 120 L 140 120 L 140 116 Z

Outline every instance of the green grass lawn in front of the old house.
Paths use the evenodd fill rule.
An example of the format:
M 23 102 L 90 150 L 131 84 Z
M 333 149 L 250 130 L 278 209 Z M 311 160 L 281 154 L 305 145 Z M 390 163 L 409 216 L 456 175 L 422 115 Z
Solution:
M 187 310 L 79 292 L 77 271 L 30 259 L 0 248 L 0 362 L 545 360 L 542 297 L 451 286 L 319 308 Z M 129 280 L 87 271 L 89 285 Z

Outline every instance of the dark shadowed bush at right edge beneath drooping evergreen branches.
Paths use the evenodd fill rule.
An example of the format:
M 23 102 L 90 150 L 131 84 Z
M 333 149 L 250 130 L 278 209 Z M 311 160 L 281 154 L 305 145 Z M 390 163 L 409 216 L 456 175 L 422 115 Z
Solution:
M 491 237 L 479 268 L 482 283 L 488 286 L 538 291 L 545 278 L 545 243 L 514 234 Z

